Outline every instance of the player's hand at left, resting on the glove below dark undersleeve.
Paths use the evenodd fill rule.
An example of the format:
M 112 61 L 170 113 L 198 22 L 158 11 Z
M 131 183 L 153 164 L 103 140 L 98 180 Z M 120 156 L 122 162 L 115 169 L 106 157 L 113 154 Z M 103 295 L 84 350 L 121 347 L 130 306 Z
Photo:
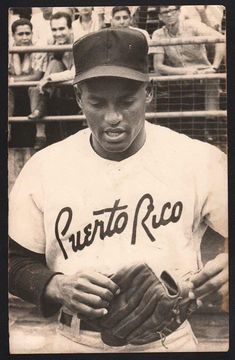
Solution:
M 77 313 L 81 319 L 105 315 L 118 292 L 119 287 L 109 277 L 96 271 L 56 275 L 46 289 L 47 296 Z

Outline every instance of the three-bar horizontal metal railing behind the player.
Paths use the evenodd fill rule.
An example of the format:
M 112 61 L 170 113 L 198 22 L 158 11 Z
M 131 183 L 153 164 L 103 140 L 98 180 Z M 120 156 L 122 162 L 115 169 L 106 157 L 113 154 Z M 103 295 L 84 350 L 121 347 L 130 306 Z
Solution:
M 149 46 L 152 53 L 157 46 L 172 46 L 182 44 L 214 44 L 214 43 L 225 43 L 226 37 L 224 35 L 212 37 L 212 36 L 194 36 L 184 38 L 172 38 L 172 39 L 161 39 L 158 41 L 151 40 Z M 9 53 L 23 53 L 23 52 L 58 52 L 58 51 L 72 51 L 72 45 L 45 45 L 45 46 L 13 46 L 9 48 Z M 226 73 L 215 73 L 215 74 L 192 74 L 192 75 L 166 75 L 159 76 L 155 73 L 150 73 L 150 79 L 155 82 L 171 82 L 171 81 L 184 81 L 184 80 L 210 80 L 210 79 L 226 79 Z M 37 86 L 38 81 L 21 81 L 9 83 L 9 87 L 27 87 Z M 72 81 L 64 81 L 51 83 L 50 86 L 68 86 L 72 85 Z M 165 118 L 186 118 L 186 117 L 226 117 L 227 111 L 216 110 L 216 111 L 167 111 L 167 112 L 147 112 L 146 119 L 165 119 Z M 56 116 L 44 116 L 39 119 L 39 122 L 49 121 L 85 121 L 84 115 L 56 115 Z M 12 116 L 9 117 L 9 123 L 11 122 L 29 122 L 30 120 L 26 116 Z

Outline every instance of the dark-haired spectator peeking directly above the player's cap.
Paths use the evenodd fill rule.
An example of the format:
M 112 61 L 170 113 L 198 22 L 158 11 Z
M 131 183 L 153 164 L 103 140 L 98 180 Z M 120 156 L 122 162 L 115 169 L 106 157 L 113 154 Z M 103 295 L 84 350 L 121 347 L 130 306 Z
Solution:
M 118 28 L 130 28 L 136 29 L 142 32 L 147 39 L 147 42 L 150 42 L 149 33 L 137 27 L 131 26 L 132 23 L 132 16 L 131 11 L 128 6 L 114 6 L 112 9 L 112 18 L 111 18 L 111 27 L 118 29 Z

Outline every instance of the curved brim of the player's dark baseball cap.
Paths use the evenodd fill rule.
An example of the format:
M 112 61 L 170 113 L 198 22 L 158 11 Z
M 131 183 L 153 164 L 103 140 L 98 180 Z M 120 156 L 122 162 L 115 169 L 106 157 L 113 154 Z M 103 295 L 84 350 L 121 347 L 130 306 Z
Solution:
M 141 73 L 122 66 L 101 65 L 89 69 L 82 74 L 77 74 L 74 78 L 73 84 L 75 85 L 84 80 L 106 76 L 121 77 L 141 82 L 149 81 L 149 74 Z

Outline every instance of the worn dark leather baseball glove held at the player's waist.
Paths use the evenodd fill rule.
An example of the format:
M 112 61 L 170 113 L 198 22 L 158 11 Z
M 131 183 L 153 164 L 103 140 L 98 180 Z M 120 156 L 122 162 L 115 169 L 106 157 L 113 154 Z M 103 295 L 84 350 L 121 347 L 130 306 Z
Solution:
M 147 264 L 122 268 L 111 279 L 120 287 L 107 315 L 92 321 L 110 346 L 142 345 L 162 340 L 176 330 L 197 308 L 189 298 L 190 284 L 183 286 L 163 271 L 160 278 Z

